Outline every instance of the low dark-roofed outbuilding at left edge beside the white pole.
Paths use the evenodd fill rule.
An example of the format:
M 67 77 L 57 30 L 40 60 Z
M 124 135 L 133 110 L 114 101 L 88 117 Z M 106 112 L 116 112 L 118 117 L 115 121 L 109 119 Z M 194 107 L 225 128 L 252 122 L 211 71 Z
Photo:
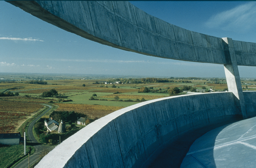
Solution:
M 0 144 L 3 145 L 19 145 L 21 139 L 20 132 L 0 133 Z

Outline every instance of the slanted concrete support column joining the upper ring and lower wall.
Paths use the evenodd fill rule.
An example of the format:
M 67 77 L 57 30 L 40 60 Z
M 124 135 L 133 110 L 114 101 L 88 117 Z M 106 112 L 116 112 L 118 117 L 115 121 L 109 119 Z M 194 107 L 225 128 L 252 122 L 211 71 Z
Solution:
M 243 118 L 246 119 L 247 112 L 245 108 L 243 89 L 235 57 L 233 40 L 227 37 L 222 39 L 224 41 L 225 57 L 227 62 L 229 63 L 224 65 L 227 87 L 229 88 L 229 91 L 233 92 L 233 94 L 235 95 L 236 105 L 238 109 L 241 111 Z

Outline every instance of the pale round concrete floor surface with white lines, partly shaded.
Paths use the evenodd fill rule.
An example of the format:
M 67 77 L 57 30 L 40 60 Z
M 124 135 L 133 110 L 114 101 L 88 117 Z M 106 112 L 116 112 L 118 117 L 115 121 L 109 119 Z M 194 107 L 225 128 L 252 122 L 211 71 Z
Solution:
M 255 168 L 256 117 L 216 128 L 197 139 L 180 168 Z

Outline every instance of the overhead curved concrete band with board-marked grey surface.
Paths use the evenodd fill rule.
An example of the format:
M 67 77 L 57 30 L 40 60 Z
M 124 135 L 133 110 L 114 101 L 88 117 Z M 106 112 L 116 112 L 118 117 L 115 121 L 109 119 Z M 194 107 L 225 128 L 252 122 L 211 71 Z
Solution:
M 230 64 L 221 38 L 172 25 L 125 1 L 8 1 L 84 38 L 144 55 Z M 238 65 L 256 66 L 256 44 L 234 41 Z

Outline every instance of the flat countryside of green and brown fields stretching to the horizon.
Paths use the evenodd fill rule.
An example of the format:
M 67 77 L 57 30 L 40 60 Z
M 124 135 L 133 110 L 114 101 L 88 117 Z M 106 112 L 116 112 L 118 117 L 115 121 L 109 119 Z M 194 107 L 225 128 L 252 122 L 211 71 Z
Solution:
M 244 91 L 256 90 L 255 79 L 241 82 Z M 2 73 L 0 133 L 21 132 L 23 137 L 29 123 L 50 105 L 53 109 L 36 122 L 33 134 L 42 144 L 56 145 L 60 138 L 66 139 L 87 124 L 143 101 L 225 91 L 228 91 L 225 78 Z M 49 119 L 58 125 L 63 122 L 65 133 L 58 134 L 57 129 L 49 131 L 45 126 Z M 11 147 L 1 146 L 0 152 L 6 148 Z M 5 165 L 14 164 L 9 158 L 5 160 Z

